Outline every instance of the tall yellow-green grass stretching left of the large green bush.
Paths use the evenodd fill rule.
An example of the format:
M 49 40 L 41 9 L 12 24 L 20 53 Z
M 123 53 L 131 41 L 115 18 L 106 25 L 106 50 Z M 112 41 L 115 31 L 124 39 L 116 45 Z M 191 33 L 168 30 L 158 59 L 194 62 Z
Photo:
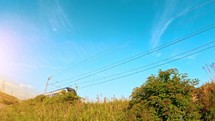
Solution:
M 3 121 L 125 121 L 129 101 L 44 103 L 28 100 L 0 111 Z

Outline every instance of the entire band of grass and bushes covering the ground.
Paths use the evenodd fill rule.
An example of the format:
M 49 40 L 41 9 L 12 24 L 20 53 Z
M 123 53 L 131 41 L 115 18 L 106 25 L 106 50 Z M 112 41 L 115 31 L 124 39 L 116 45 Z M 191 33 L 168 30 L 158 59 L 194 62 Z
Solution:
M 39 121 L 213 121 L 215 83 L 200 87 L 176 69 L 159 71 L 134 89 L 131 99 L 86 102 L 75 93 L 39 95 L 0 111 L 1 120 Z

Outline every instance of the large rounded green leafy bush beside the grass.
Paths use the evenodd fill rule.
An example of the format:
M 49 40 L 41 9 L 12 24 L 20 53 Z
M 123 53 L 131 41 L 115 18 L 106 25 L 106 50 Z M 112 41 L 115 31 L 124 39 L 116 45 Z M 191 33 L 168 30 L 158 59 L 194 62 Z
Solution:
M 188 79 L 177 69 L 159 71 L 135 88 L 128 107 L 132 120 L 198 120 L 197 104 L 193 100 L 198 80 Z

